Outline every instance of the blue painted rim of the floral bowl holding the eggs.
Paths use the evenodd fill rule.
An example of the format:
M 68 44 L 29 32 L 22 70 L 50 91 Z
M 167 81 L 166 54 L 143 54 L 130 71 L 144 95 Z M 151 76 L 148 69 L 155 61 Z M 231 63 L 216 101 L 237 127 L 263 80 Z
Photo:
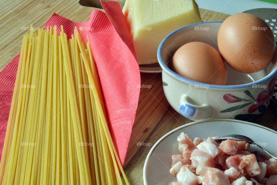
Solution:
M 181 27 L 179 29 L 176 29 L 174 32 L 170 33 L 168 36 L 166 36 L 162 40 L 162 42 L 160 43 L 160 45 L 158 47 L 158 52 L 157 52 L 158 62 L 160 64 L 160 66 L 162 67 L 162 70 L 166 71 L 166 73 L 168 73 L 169 75 L 171 75 L 171 76 L 173 76 L 173 77 L 175 77 L 175 78 L 177 78 L 177 79 L 179 79 L 181 81 L 188 82 L 188 83 L 193 84 L 193 85 L 208 85 L 209 88 L 221 88 L 221 89 L 237 89 L 237 88 L 251 87 L 252 85 L 262 84 L 263 82 L 266 82 L 267 80 L 270 80 L 274 76 L 276 76 L 277 69 L 273 73 L 268 74 L 267 76 L 263 77 L 260 80 L 255 81 L 255 82 L 251 82 L 251 83 L 248 83 L 248 84 L 242 84 L 242 85 L 219 86 L 219 85 L 204 84 L 204 83 L 201 83 L 201 82 L 196 82 L 196 81 L 187 79 L 185 77 L 182 77 L 182 76 L 174 73 L 173 71 L 171 71 L 171 69 L 166 67 L 166 65 L 165 65 L 165 63 L 164 63 L 164 61 L 162 60 L 162 57 L 161 57 L 161 50 L 163 48 L 162 46 L 163 46 L 164 42 L 166 41 L 166 39 L 169 38 L 171 35 L 175 34 L 176 32 L 178 32 L 181 29 L 185 29 L 187 27 L 191 27 L 191 26 L 194 26 L 194 25 L 207 24 L 207 23 L 222 23 L 222 22 L 203 22 L 203 23 L 195 23 L 195 24 L 191 24 L 191 25 L 188 25 L 188 26 L 184 26 L 184 27 Z M 277 54 L 277 53 L 275 53 L 275 54 Z

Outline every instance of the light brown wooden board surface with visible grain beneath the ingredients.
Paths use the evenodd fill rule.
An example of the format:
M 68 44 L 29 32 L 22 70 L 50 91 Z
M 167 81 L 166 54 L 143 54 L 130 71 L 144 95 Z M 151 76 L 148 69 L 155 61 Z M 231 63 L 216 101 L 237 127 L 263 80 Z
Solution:
M 0 71 L 20 52 L 23 34 L 26 33 L 29 25 L 43 27 L 54 12 L 72 21 L 84 22 L 95 9 L 81 6 L 76 0 L 2 0 L 0 5 Z M 205 9 L 200 9 L 200 13 L 204 22 L 224 21 L 229 16 Z M 134 185 L 143 184 L 143 165 L 151 149 L 147 146 L 137 146 L 137 143 L 145 142 L 154 145 L 170 130 L 192 122 L 178 114 L 167 102 L 160 73 L 141 73 L 141 84 L 151 85 L 151 88 L 141 88 L 139 106 L 124 164 L 128 180 Z M 276 118 L 276 110 L 270 103 L 265 112 L 251 122 L 276 130 Z

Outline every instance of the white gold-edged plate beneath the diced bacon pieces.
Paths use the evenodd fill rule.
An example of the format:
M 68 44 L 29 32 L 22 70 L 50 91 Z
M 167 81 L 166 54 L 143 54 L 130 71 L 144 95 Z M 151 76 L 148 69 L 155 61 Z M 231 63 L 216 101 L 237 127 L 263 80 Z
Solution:
M 277 132 L 267 127 L 233 119 L 196 121 L 178 127 L 165 134 L 151 148 L 143 169 L 143 180 L 145 185 L 168 185 L 173 180 L 177 180 L 174 175 L 169 173 L 169 169 L 172 163 L 171 156 L 179 154 L 177 136 L 179 136 L 181 132 L 188 134 L 192 140 L 195 137 L 205 139 L 209 136 L 241 134 L 264 145 L 267 150 L 277 153 Z M 258 147 L 251 146 L 250 149 L 256 150 Z

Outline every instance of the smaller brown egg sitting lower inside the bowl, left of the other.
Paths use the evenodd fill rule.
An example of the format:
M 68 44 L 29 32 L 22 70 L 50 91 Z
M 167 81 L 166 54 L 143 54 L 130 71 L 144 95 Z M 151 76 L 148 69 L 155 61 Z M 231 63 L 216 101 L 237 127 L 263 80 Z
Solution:
M 190 80 L 226 85 L 225 63 L 216 49 L 204 42 L 189 42 L 173 55 L 170 69 Z

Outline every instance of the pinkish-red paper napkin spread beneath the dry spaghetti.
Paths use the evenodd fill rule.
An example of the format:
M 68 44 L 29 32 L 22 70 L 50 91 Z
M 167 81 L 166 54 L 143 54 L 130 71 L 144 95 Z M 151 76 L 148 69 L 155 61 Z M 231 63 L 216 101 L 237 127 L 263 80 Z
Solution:
M 124 164 L 128 143 L 139 100 L 139 67 L 127 23 L 120 4 L 101 1 L 106 13 L 93 10 L 88 21 L 75 23 L 53 14 L 45 27 L 63 25 L 71 38 L 74 26 L 83 27 L 84 40 L 91 44 L 102 86 L 108 126 L 113 136 L 121 163 Z M 0 72 L 0 152 L 3 150 L 5 132 L 10 112 L 19 55 Z

